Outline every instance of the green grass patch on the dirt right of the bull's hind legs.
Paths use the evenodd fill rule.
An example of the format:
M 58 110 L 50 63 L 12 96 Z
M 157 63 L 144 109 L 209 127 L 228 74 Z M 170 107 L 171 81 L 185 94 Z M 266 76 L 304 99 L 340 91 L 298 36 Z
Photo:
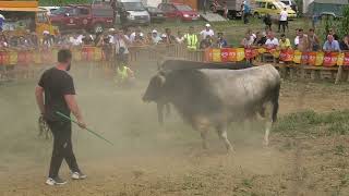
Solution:
M 280 118 L 276 123 L 274 131 L 287 135 L 294 135 L 297 133 L 345 135 L 349 132 L 348 119 L 349 110 L 329 113 L 303 111 Z

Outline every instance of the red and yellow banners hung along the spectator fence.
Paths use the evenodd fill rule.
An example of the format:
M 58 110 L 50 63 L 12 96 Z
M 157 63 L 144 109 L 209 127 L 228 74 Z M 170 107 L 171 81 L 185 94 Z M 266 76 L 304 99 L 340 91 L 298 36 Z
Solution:
M 24 65 L 48 64 L 57 60 L 59 48 L 50 50 L 3 50 L 0 51 L 0 65 Z M 99 47 L 71 48 L 73 61 L 103 61 L 105 54 Z M 349 52 L 323 52 L 286 49 L 266 49 L 266 48 L 221 48 L 206 49 L 205 61 L 207 62 L 238 62 L 253 59 L 263 53 L 270 53 L 274 58 L 284 62 L 294 62 L 297 64 L 309 64 L 314 66 L 349 66 Z

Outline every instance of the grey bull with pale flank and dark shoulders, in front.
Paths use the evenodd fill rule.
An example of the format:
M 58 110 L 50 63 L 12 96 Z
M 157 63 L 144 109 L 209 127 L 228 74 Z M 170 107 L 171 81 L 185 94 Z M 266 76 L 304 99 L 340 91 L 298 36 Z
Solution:
M 243 70 L 174 70 L 155 75 L 143 101 L 170 102 L 182 119 L 200 131 L 203 147 L 206 135 L 215 128 L 227 150 L 231 122 L 262 117 L 265 120 L 264 144 L 268 145 L 273 122 L 277 119 L 280 75 L 273 65 Z

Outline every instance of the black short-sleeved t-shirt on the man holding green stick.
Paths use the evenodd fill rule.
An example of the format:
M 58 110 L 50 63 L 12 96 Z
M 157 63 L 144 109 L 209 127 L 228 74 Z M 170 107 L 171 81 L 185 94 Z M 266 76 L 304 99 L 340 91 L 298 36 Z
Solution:
M 59 121 L 56 111 L 70 115 L 64 95 L 75 95 L 74 82 L 65 71 L 51 68 L 47 70 L 38 83 L 45 90 L 45 118 Z

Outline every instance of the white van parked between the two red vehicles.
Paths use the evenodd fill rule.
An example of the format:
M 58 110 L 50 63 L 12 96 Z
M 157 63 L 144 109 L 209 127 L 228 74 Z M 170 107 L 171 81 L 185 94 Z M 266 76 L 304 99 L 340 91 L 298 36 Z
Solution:
M 116 2 L 122 25 L 149 25 L 151 15 L 141 0 L 120 0 Z

